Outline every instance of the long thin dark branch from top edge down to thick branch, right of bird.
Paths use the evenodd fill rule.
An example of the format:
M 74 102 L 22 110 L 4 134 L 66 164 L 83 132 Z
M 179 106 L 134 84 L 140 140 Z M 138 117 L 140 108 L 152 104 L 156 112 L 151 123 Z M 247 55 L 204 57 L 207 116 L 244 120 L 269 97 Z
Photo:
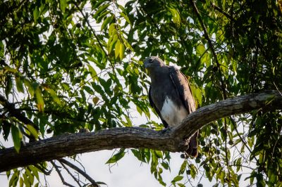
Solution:
M 195 11 L 195 13 L 196 13 L 196 15 L 197 15 L 197 18 L 198 18 L 198 20 L 200 21 L 200 24 L 201 24 L 201 26 L 202 26 L 202 30 L 204 30 L 204 37 L 205 37 L 205 39 L 207 39 L 207 42 L 208 42 L 208 44 L 209 44 L 209 48 L 211 49 L 211 51 L 212 51 L 212 56 L 214 57 L 214 60 L 216 61 L 216 67 L 217 67 L 217 69 L 218 69 L 218 72 L 219 72 L 219 80 L 220 80 L 220 82 L 221 82 L 221 91 L 222 91 L 222 93 L 223 93 L 223 98 L 224 99 L 226 99 L 227 98 L 227 94 L 226 94 L 226 86 L 225 86 L 225 84 L 224 84 L 224 82 L 223 82 L 223 79 L 222 79 L 222 73 L 221 73 L 221 70 L 220 70 L 220 64 L 219 64 L 219 60 L 218 60 L 218 58 L 217 58 L 217 56 L 216 56 L 216 51 L 214 50 L 214 46 L 213 46 L 213 44 L 212 44 L 212 40 L 211 39 L 209 39 L 209 34 L 207 33 L 207 28 L 206 28 L 206 26 L 204 25 L 204 22 L 203 22 L 203 20 L 202 20 L 202 18 L 201 18 L 201 15 L 200 15 L 200 13 L 199 13 L 199 11 L 198 11 L 198 9 L 197 9 L 197 6 L 196 6 L 196 4 L 195 4 L 195 2 L 193 1 L 193 0 L 190 0 L 190 3 L 192 4 L 192 7 L 193 7 L 193 9 L 194 9 L 194 11 Z

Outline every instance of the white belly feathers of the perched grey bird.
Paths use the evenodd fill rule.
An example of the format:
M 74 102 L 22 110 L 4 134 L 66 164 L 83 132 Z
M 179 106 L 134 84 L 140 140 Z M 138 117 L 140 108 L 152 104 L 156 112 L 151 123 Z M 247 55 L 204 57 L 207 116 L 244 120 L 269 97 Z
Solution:
M 161 108 L 161 116 L 170 127 L 175 127 L 188 116 L 188 112 L 183 106 L 178 108 L 170 98 L 166 97 L 163 108 Z

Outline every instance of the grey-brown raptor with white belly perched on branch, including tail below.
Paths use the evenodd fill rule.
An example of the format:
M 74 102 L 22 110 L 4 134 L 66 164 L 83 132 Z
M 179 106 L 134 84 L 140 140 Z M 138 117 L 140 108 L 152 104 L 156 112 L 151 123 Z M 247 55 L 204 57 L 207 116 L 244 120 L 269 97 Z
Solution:
M 144 60 L 144 67 L 149 72 L 149 103 L 156 110 L 165 128 L 177 127 L 183 119 L 196 110 L 195 99 L 188 79 L 174 66 L 168 66 L 161 58 L 150 56 Z M 196 131 L 188 140 L 188 155 L 197 157 Z

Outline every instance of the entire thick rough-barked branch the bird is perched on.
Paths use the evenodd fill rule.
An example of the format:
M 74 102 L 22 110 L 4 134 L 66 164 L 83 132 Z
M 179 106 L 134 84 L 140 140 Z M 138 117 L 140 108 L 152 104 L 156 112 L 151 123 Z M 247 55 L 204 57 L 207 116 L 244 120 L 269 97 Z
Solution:
M 207 105 L 188 115 L 180 126 L 166 132 L 140 127 L 115 128 L 96 133 L 63 134 L 27 143 L 20 148 L 20 153 L 16 153 L 14 148 L 7 148 L 0 150 L 0 172 L 78 153 L 114 148 L 151 148 L 181 152 L 187 149 L 183 140 L 204 125 L 222 117 L 259 108 L 282 109 L 281 93 L 264 91 Z

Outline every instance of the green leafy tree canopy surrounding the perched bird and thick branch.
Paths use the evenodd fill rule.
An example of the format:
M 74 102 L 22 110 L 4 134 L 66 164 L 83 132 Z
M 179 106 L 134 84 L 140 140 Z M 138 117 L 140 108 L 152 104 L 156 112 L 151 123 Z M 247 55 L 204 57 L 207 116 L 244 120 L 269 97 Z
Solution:
M 140 127 L 163 129 L 150 120 L 154 111 L 142 66 L 147 56 L 178 65 L 200 109 L 282 90 L 281 1 L 13 0 L 0 6 L 0 132 L 17 153 L 27 142 L 61 134 L 135 127 L 136 115 L 147 119 Z M 279 186 L 282 115 L 275 109 L 242 110 L 202 127 L 198 157 L 183 159 L 171 183 L 161 176 L 170 168 L 169 149 L 130 152 L 149 164 L 164 186 L 185 186 L 185 181 L 201 186 L 201 176 L 216 186 L 238 186 L 246 179 Z M 0 146 L 1 155 L 6 148 Z M 108 163 L 124 154 L 121 148 Z M 54 159 L 7 171 L 9 186 L 39 186 L 39 172 L 54 170 L 61 177 L 58 165 L 79 171 Z M 250 173 L 243 174 L 243 168 Z M 99 185 L 91 174 L 80 174 Z

